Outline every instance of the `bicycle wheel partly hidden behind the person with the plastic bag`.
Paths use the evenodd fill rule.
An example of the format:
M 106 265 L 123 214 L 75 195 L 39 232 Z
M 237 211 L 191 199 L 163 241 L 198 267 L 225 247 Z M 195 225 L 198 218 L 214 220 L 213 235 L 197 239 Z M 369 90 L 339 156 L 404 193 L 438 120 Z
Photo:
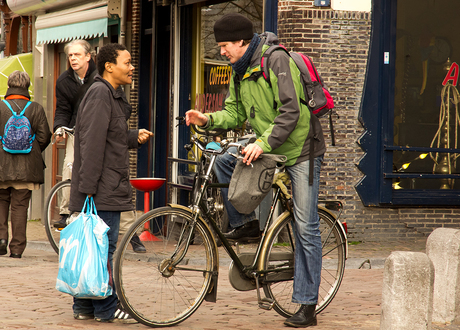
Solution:
M 70 196 L 70 180 L 57 183 L 49 192 L 45 202 L 45 230 L 48 240 L 56 253 L 59 253 L 61 229 L 54 228 L 54 223 L 61 218 L 63 200 Z M 66 212 L 68 212 L 66 210 Z

